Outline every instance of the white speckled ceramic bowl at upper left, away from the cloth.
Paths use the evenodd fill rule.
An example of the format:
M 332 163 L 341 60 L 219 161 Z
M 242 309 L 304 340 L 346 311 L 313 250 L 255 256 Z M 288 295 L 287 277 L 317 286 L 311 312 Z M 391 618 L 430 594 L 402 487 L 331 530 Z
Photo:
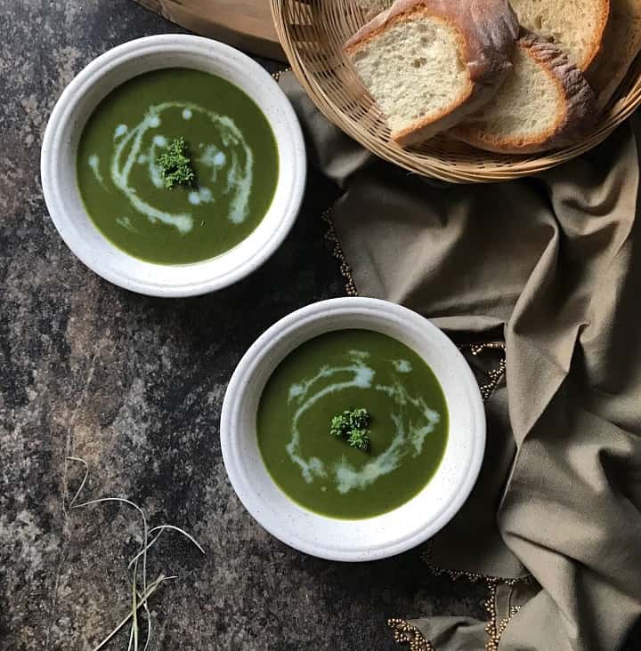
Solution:
M 138 260 L 94 226 L 77 189 L 80 135 L 93 109 L 118 85 L 158 68 L 194 68 L 236 84 L 256 102 L 276 138 L 280 173 L 272 205 L 256 230 L 230 251 L 183 265 Z M 45 132 L 41 156 L 45 201 L 73 253 L 115 285 L 152 296 L 212 292 L 255 270 L 288 235 L 303 198 L 306 158 L 296 114 L 272 77 L 242 52 L 199 36 L 149 36 L 93 60 L 62 93 Z

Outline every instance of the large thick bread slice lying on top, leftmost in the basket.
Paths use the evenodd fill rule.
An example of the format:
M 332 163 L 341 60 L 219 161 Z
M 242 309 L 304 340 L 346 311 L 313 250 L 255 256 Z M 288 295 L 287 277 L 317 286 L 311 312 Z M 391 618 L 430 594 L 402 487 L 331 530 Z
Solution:
M 407 146 L 491 100 L 512 67 L 517 37 L 507 0 L 396 0 L 345 53 L 392 139 Z

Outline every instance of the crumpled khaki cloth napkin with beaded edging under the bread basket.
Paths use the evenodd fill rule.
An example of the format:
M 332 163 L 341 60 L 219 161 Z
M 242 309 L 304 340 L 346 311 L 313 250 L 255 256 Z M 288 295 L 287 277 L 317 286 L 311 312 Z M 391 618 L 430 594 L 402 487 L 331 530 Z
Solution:
M 434 537 L 431 562 L 533 576 L 495 584 L 507 625 L 491 648 L 621 647 L 641 614 L 637 122 L 530 179 L 459 186 L 371 156 L 291 73 L 280 84 L 312 164 L 342 192 L 333 221 L 359 293 L 415 309 L 455 339 L 505 341 L 481 477 Z M 437 651 L 488 643 L 472 619 L 411 623 Z

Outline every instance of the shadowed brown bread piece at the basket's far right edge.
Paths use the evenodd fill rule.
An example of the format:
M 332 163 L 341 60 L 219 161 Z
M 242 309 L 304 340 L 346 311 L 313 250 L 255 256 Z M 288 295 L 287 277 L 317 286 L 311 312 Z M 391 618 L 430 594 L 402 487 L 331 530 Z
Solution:
M 632 61 L 641 51 L 641 2 L 611 0 L 610 20 L 605 30 L 604 56 L 599 57 L 586 77 L 603 109 L 612 98 Z

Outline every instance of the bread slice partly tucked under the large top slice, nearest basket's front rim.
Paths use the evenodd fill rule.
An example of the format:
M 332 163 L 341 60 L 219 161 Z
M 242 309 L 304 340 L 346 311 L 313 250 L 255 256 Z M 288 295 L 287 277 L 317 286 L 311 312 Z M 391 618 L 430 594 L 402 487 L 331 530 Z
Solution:
M 496 97 L 451 133 L 480 149 L 527 154 L 577 140 L 595 117 L 595 94 L 565 52 L 525 34 Z

